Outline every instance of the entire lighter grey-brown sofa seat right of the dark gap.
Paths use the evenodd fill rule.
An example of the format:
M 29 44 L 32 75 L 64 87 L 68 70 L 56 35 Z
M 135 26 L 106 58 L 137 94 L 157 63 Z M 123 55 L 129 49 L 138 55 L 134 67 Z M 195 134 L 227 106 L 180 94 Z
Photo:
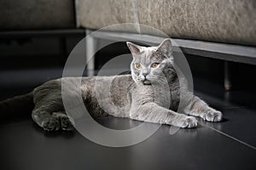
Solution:
M 170 37 L 256 45 L 254 0 L 78 1 L 79 26 L 83 27 L 138 22 Z

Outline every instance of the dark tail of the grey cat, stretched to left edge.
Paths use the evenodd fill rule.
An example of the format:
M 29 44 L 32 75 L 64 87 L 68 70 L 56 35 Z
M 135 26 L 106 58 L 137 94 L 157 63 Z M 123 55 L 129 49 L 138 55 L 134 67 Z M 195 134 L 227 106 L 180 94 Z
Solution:
M 0 101 L 0 119 L 13 119 L 22 116 L 31 116 L 34 107 L 33 94 L 15 96 Z

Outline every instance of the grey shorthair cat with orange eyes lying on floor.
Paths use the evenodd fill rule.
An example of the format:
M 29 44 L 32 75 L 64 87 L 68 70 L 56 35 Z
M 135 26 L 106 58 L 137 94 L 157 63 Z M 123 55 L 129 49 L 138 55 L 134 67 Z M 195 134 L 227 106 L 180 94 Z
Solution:
M 108 115 L 128 117 L 142 122 L 167 124 L 176 127 L 197 127 L 194 116 L 199 116 L 208 122 L 220 122 L 222 113 L 212 109 L 202 99 L 183 87 L 186 81 L 178 77 L 174 68 L 172 41 L 166 39 L 157 47 L 143 47 L 126 42 L 131 51 L 131 75 L 115 77 L 63 77 L 45 82 L 35 88 L 32 93 L 8 99 L 0 103 L 0 107 L 11 106 L 11 103 L 25 101 L 33 105 L 32 119 L 45 131 L 72 130 L 73 119 L 67 116 L 61 98 L 61 83 L 66 85 L 70 95 L 76 96 L 81 90 L 84 105 L 91 116 Z M 78 82 L 81 81 L 79 84 Z M 167 92 L 160 84 L 167 83 Z M 113 109 L 113 105 L 100 105 L 105 84 L 111 82 L 110 100 L 113 105 L 122 108 Z M 97 83 L 97 84 L 96 84 Z M 98 88 L 95 88 L 95 87 Z M 160 90 L 154 90 L 154 88 Z M 101 94 L 102 93 L 102 94 Z M 159 99 L 155 99 L 157 93 Z M 99 94 L 96 96 L 96 94 Z M 102 96 L 102 97 L 101 97 Z M 185 102 L 182 112 L 177 113 L 181 96 Z M 187 99 L 187 100 L 186 100 Z M 170 104 L 170 105 L 165 105 Z M 28 105 L 28 104 L 27 104 Z M 15 105 L 13 106 L 15 107 Z

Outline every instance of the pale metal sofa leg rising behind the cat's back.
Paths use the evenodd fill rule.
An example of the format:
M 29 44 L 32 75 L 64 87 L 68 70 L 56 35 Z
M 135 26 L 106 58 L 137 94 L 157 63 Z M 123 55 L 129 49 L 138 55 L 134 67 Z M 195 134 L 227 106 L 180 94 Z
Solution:
M 87 61 L 87 75 L 92 77 L 95 75 L 95 54 L 96 54 L 96 38 L 87 34 L 85 39 L 85 55 Z

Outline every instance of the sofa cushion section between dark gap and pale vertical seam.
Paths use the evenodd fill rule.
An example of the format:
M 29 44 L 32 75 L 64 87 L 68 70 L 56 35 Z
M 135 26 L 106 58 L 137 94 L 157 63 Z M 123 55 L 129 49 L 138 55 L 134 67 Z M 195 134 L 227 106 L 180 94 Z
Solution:
M 78 0 L 79 26 L 99 29 L 119 23 L 135 21 L 133 1 L 127 0 Z

